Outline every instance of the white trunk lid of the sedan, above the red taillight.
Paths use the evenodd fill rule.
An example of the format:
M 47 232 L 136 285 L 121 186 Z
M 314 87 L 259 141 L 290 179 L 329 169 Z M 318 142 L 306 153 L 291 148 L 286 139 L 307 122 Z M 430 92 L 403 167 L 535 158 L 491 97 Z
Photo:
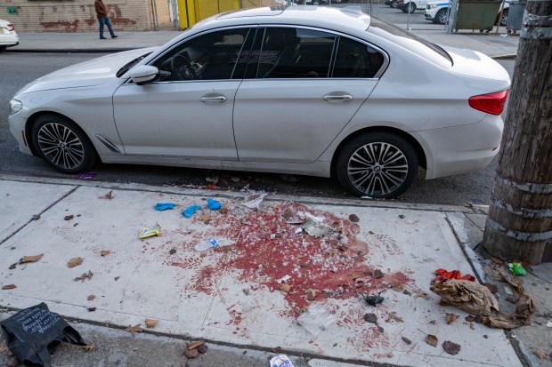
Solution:
M 481 52 L 440 45 L 452 58 L 451 71 L 463 76 L 487 79 L 500 88 L 508 88 L 510 76 L 497 61 Z

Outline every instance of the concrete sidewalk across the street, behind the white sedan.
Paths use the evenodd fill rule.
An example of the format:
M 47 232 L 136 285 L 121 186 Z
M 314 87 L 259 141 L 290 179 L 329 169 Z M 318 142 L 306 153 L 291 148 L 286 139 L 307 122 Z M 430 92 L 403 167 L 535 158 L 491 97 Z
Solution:
M 406 25 L 397 25 L 406 28 Z M 412 29 L 412 33 L 435 44 L 467 48 L 497 58 L 513 58 L 519 36 L 507 36 L 506 29 L 496 34 L 466 32 L 447 34 L 442 27 Z M 118 32 L 118 38 L 100 40 L 97 33 L 20 33 L 20 44 L 9 52 L 117 52 L 160 46 L 180 35 L 180 31 Z M 506 37 L 505 37 L 506 35 Z

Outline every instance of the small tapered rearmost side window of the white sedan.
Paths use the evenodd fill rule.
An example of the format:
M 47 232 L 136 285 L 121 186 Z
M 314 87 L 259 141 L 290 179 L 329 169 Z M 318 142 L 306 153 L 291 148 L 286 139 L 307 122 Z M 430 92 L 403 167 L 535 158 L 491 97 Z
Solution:
M 384 61 L 384 55 L 368 45 L 339 37 L 332 76 L 372 78 L 376 76 Z

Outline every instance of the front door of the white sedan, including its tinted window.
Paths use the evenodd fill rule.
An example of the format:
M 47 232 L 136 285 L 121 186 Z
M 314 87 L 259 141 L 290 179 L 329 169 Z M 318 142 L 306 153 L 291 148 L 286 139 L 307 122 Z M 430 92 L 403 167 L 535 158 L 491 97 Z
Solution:
M 154 60 L 160 79 L 121 85 L 114 117 L 127 156 L 238 160 L 232 129 L 248 28 L 195 36 Z

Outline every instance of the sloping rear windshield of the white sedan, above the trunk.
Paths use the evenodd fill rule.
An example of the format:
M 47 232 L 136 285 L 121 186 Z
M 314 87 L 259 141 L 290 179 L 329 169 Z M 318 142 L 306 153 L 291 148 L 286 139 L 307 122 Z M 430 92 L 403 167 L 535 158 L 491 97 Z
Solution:
M 396 44 L 401 44 L 402 47 L 410 50 L 411 52 L 418 53 L 418 55 L 426 58 L 426 60 L 430 60 L 443 68 L 451 68 L 452 66 L 451 56 L 441 47 L 427 42 L 425 39 L 413 35 L 410 32 L 407 32 L 392 24 L 372 17 L 368 29 L 374 34 L 386 32 L 386 34 L 394 36 L 393 41 Z

